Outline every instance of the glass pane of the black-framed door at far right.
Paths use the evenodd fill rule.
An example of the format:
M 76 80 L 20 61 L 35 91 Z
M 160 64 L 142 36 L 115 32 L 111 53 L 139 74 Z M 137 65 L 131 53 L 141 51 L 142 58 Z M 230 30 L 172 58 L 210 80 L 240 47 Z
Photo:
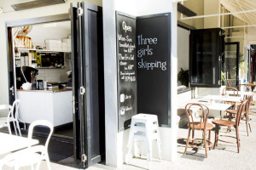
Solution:
M 237 44 L 225 44 L 223 72 L 225 79 L 230 80 L 230 84 L 225 85 L 232 88 L 236 88 L 237 56 Z

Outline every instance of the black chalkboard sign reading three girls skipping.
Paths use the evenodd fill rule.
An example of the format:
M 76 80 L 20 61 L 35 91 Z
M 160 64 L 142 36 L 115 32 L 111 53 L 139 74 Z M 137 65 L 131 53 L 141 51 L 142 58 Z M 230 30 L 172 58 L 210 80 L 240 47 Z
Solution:
M 171 14 L 137 17 L 137 112 L 171 126 Z

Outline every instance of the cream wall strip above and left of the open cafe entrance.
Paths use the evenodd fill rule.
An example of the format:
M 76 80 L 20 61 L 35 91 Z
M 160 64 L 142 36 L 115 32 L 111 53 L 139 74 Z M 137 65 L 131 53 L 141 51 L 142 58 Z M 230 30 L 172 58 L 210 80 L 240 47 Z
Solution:
M 21 10 L 16 12 L 9 12 L 0 14 L 0 104 L 9 104 L 9 73 L 8 73 L 8 58 L 7 58 L 7 32 L 5 22 L 11 20 L 24 20 L 37 17 L 55 15 L 55 14 L 67 14 L 70 7 L 70 3 L 77 3 L 79 0 L 67 0 L 66 3 L 57 5 L 32 8 L 27 10 Z M 102 6 L 102 0 L 87 0 L 87 2 L 94 3 Z

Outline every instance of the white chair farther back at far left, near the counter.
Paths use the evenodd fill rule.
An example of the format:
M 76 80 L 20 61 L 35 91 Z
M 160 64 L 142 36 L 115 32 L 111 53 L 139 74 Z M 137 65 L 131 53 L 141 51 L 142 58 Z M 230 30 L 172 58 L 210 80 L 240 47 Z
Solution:
M 0 117 L 0 128 L 8 127 L 9 133 L 11 134 L 10 122 L 13 122 L 15 127 L 15 134 L 17 135 L 17 128 L 21 136 L 20 125 L 18 119 L 18 110 L 20 106 L 20 99 L 16 99 L 12 106 L 9 106 L 9 114 L 7 117 Z

